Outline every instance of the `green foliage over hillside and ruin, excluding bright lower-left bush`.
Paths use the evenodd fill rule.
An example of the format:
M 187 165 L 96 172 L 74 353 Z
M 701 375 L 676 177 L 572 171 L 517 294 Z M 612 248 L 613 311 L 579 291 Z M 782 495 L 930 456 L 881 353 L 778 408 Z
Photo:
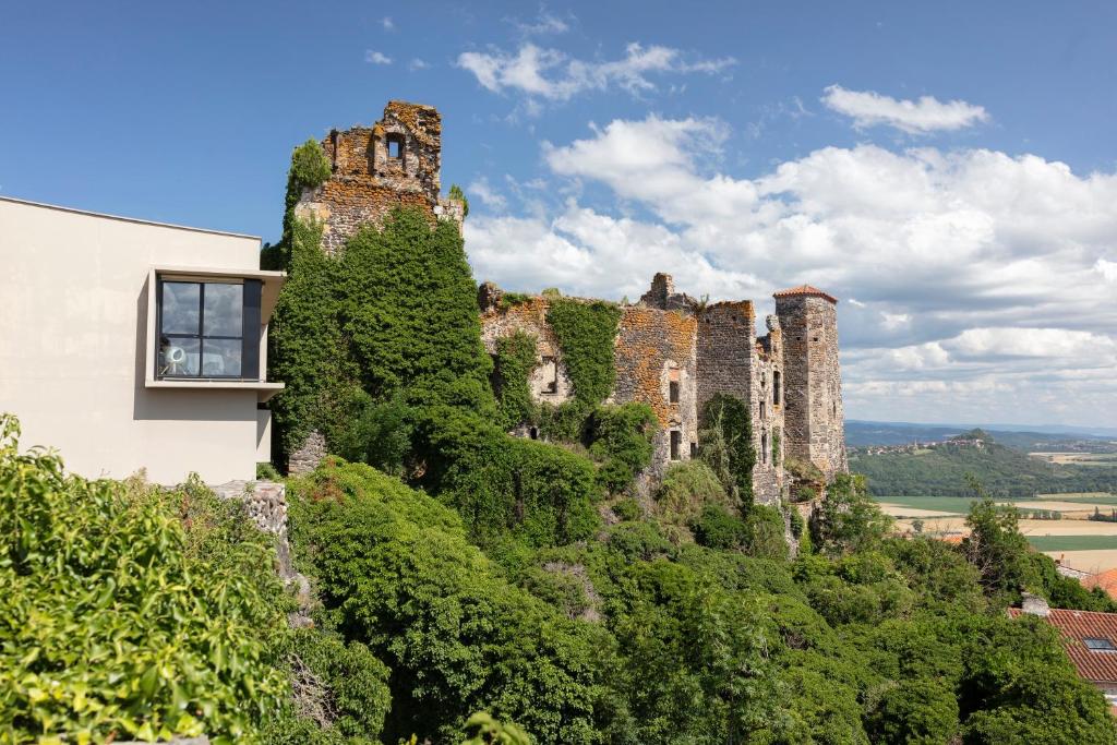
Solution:
M 293 222 L 277 422 L 288 448 L 317 429 L 363 464 L 289 483 L 322 606 L 284 669 L 313 672 L 335 709 L 328 726 L 284 709 L 270 742 L 1114 739 L 1057 634 L 1004 613 L 1024 590 L 1104 601 L 1010 518 L 978 504 L 964 546 L 888 537 L 863 478 L 841 476 L 809 528 L 790 519 L 792 560 L 783 515 L 752 500 L 743 401 L 715 397 L 700 458 L 633 488 L 656 421 L 602 403 L 620 308 L 544 293 L 574 400 L 538 405 L 534 338 L 499 341 L 495 367 L 484 353 L 456 231 L 399 211 L 335 258 L 315 231 Z M 521 426 L 541 440 L 506 433 Z

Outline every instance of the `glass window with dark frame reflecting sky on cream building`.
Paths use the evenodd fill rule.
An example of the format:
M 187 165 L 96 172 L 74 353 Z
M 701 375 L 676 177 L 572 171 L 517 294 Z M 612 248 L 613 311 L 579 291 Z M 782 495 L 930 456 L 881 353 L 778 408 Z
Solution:
M 159 283 L 160 378 L 255 378 L 258 366 L 254 346 L 258 338 L 245 338 L 245 312 L 255 299 L 259 314 L 259 292 L 241 283 Z M 258 283 L 256 283 L 258 285 Z M 247 293 L 254 296 L 246 298 Z M 246 299 L 250 302 L 246 306 Z

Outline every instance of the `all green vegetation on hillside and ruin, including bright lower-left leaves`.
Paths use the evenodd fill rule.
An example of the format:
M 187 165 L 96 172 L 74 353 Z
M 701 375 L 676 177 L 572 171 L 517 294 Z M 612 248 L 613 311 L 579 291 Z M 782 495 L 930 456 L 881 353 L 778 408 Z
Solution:
M 321 175 L 316 149 L 293 189 Z M 334 453 L 288 481 L 313 628 L 287 627 L 238 503 L 68 478 L 6 429 L 0 745 L 1117 739 L 1057 632 L 1004 612 L 1024 590 L 1114 605 L 1031 553 L 1014 513 L 978 502 L 961 546 L 888 537 L 842 475 L 809 525 L 790 513 L 792 560 L 747 493 L 741 401 L 705 407 L 699 458 L 634 489 L 655 421 L 601 400 L 609 307 L 562 305 L 590 351 L 576 405 L 541 410 L 528 342 L 495 369 L 484 353 L 456 229 L 398 211 L 337 258 L 315 236 L 288 216 L 271 255 L 290 270 L 280 437 L 317 429 Z M 509 437 L 521 417 L 551 441 Z

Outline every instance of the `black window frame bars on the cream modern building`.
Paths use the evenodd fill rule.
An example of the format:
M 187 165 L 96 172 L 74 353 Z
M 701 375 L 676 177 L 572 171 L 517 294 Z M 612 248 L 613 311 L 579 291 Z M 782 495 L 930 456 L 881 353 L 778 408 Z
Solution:
M 198 333 L 164 334 L 163 333 L 163 285 L 166 283 L 198 285 Z M 240 285 L 240 335 L 206 334 L 206 286 L 207 285 Z M 191 277 L 159 275 L 155 281 L 155 380 L 173 381 L 251 381 L 260 380 L 260 302 L 264 295 L 264 283 L 251 278 Z M 240 342 L 239 375 L 206 375 L 203 365 L 198 365 L 198 373 L 166 374 L 160 372 L 160 354 L 163 338 L 198 340 L 198 353 L 204 354 L 206 340 Z

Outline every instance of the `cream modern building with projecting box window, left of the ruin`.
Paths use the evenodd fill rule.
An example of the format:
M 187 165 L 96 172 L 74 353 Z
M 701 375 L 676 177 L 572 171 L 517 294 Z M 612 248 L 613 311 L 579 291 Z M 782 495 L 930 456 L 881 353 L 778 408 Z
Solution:
M 0 197 L 0 412 L 69 471 L 251 479 L 270 457 L 260 239 Z

